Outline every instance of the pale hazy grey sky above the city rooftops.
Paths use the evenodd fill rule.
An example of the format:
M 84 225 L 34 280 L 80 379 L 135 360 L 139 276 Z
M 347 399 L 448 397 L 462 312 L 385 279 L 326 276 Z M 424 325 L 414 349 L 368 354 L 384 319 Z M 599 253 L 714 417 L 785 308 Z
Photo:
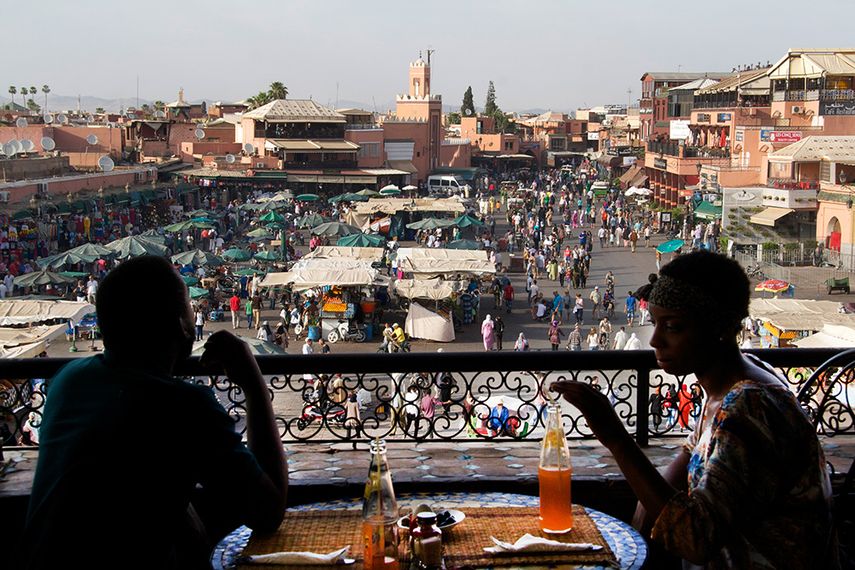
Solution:
M 645 71 L 730 71 L 791 47 L 855 47 L 855 1 L 2 0 L 9 85 L 56 95 L 235 101 L 283 82 L 290 98 L 385 111 L 409 62 L 459 106 L 493 81 L 506 111 L 625 103 Z M 46 23 L 47 20 L 47 23 Z M 10 53 L 6 50 L 6 53 Z M 631 93 L 627 93 L 631 90 Z M 40 100 L 41 94 L 37 98 Z M 374 107 L 374 108 L 372 108 Z

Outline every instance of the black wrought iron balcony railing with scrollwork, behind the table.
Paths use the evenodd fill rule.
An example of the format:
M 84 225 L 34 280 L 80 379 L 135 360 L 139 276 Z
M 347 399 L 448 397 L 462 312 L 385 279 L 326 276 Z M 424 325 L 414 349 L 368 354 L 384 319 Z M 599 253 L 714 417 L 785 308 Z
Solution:
M 781 370 L 794 393 L 813 369 L 838 351 L 751 351 Z M 545 392 L 556 380 L 593 384 L 605 393 L 636 441 L 680 437 L 694 427 L 703 393 L 692 377 L 656 367 L 652 351 L 498 352 L 260 356 L 285 442 L 334 443 L 384 437 L 398 441 L 537 439 L 543 433 Z M 0 362 L 3 444 L 34 445 L 49 378 L 67 359 Z M 198 359 L 179 373 L 209 386 L 243 432 L 244 399 L 224 377 L 209 376 Z M 12 380 L 14 379 L 14 380 Z M 49 386 L 49 383 L 47 384 Z M 832 393 L 835 406 L 817 403 L 822 433 L 855 433 L 851 376 Z M 355 395 L 356 405 L 346 405 Z M 505 415 L 498 407 L 503 401 Z M 157 402 L 151 403 L 156 409 Z M 809 409 L 811 405 L 807 406 Z M 349 413 L 359 409 L 356 413 Z M 571 438 L 592 437 L 578 410 L 562 403 Z M 163 421 L 168 421 L 164 419 Z

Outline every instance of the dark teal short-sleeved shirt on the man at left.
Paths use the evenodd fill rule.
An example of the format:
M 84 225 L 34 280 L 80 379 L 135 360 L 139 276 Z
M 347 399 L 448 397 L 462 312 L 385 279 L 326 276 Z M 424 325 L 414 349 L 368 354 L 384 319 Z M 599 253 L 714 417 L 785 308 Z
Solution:
M 109 352 L 49 382 L 40 435 L 26 568 L 190 567 L 191 495 L 237 526 L 262 473 L 209 389 Z

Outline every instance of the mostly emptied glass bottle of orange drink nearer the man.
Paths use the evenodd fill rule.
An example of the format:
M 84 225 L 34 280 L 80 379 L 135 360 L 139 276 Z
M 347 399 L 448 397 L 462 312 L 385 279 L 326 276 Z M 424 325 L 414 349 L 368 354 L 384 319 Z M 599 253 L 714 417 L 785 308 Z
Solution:
M 398 570 L 398 503 L 386 460 L 386 442 L 371 442 L 371 466 L 362 499 L 365 570 Z

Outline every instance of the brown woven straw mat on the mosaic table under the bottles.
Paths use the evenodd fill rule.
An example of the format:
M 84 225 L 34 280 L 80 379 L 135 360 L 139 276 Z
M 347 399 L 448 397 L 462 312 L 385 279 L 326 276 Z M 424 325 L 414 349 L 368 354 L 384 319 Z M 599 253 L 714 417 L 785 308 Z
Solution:
M 537 507 L 473 508 L 466 520 L 443 532 L 443 552 L 448 568 L 489 566 L 597 565 L 618 567 L 617 559 L 585 509 L 573 506 L 573 530 L 564 535 L 547 535 L 538 526 Z M 484 552 L 492 546 L 490 536 L 514 542 L 525 533 L 562 542 L 590 542 L 602 546 L 595 552 L 551 552 L 525 555 L 492 555 Z M 409 555 L 402 532 L 401 567 Z M 352 568 L 362 568 L 362 512 L 359 510 L 288 512 L 279 529 L 272 534 L 253 533 L 244 556 L 283 551 L 332 552 L 350 545 L 349 557 L 356 558 Z M 240 568 L 281 570 L 281 566 L 239 565 Z M 291 566 L 292 569 L 302 567 Z M 306 566 L 308 570 L 317 566 Z

